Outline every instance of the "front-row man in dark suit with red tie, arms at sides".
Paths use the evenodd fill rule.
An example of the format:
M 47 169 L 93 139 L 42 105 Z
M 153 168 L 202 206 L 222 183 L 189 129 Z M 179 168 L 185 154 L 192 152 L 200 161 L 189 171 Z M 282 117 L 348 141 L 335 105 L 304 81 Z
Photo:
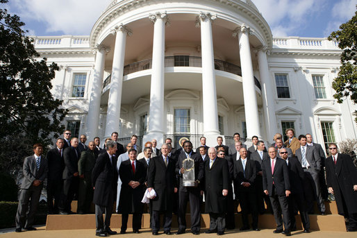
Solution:
M 284 160 L 276 157 L 276 149 L 274 147 L 269 147 L 268 154 L 269 159 L 263 160 L 262 163 L 263 189 L 272 202 L 276 222 L 274 233 L 283 233 L 283 235 L 290 236 L 291 224 L 288 205 L 290 178 L 288 165 Z M 281 219 L 281 212 L 283 212 L 283 219 Z M 285 230 L 283 230 L 283 223 Z

